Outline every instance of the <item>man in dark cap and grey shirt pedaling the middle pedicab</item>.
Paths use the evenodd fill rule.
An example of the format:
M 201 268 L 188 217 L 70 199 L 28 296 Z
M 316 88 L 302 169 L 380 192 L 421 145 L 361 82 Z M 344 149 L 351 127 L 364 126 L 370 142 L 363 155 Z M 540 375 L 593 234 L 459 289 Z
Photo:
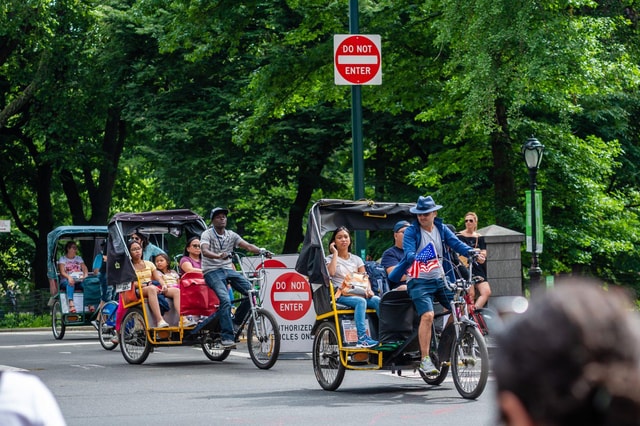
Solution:
M 231 300 L 227 290 L 227 280 L 231 286 L 246 296 L 251 289 L 251 283 L 243 274 L 236 271 L 231 259 L 231 252 L 240 247 L 255 254 L 268 254 L 267 250 L 259 248 L 245 241 L 237 233 L 226 229 L 229 210 L 216 207 L 211 210 L 209 219 L 211 227 L 200 236 L 202 250 L 202 273 L 204 280 L 220 299 L 218 312 L 220 328 L 222 329 L 222 346 L 232 348 L 234 342 L 234 323 L 231 318 Z M 236 326 L 242 322 L 250 308 L 249 300 L 240 303 L 235 313 Z

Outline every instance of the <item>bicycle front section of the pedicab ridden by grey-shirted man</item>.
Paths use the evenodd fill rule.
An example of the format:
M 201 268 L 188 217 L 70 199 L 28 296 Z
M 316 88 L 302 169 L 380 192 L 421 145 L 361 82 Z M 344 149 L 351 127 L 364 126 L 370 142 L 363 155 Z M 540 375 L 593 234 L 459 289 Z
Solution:
M 269 369 L 276 363 L 280 354 L 280 328 L 275 317 L 262 308 L 262 299 L 266 291 L 266 286 L 264 285 L 266 279 L 264 262 L 265 258 L 271 257 L 271 253 L 261 252 L 258 264 L 256 266 L 252 265 L 248 271 L 245 266 L 245 263 L 248 263 L 246 256 L 238 252 L 232 252 L 229 255 L 232 257 L 234 264 L 237 265 L 237 268 L 251 283 L 249 294 L 231 301 L 233 306 L 239 305 L 245 300 L 250 302 L 250 309 L 234 332 L 234 340 L 236 342 L 240 340 L 246 327 L 247 349 L 251 360 L 256 367 Z M 244 262 L 243 259 L 245 260 Z M 207 318 L 201 325 L 196 327 L 196 330 L 200 327 L 206 328 L 213 319 L 214 317 Z M 213 331 L 203 341 L 202 348 L 205 355 L 212 361 L 223 361 L 229 356 L 232 348 L 222 346 L 219 326 L 215 327 Z

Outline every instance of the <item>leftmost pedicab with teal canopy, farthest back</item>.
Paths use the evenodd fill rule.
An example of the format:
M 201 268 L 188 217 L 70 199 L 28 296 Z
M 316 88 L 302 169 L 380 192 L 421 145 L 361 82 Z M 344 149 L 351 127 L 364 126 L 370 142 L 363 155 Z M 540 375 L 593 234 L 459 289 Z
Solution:
M 47 277 L 51 291 L 51 331 L 57 340 L 64 338 L 67 327 L 89 325 L 96 320 L 100 305 L 100 281 L 93 273 L 93 260 L 102 253 L 108 235 L 106 226 L 59 226 L 47 235 Z M 73 308 L 67 299 L 66 286 L 61 288 L 58 261 L 65 254 L 64 246 L 73 241 L 80 248 L 87 266 L 87 276 L 76 276 Z

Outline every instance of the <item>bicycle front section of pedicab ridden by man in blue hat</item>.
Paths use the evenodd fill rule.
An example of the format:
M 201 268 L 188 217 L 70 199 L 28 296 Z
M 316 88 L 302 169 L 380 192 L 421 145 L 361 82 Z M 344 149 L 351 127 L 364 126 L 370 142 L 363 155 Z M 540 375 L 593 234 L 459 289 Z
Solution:
M 469 262 L 469 277 L 473 277 L 473 262 Z M 430 357 L 439 369 L 438 373 L 425 374 L 420 371 L 423 380 L 431 385 L 441 384 L 449 368 L 453 383 L 464 398 L 479 397 L 487 384 L 489 376 L 489 351 L 476 319 L 469 314 L 473 306 L 469 296 L 469 288 L 474 285 L 473 279 L 459 278 L 455 282 L 446 283 L 454 294 L 450 309 L 435 315 L 442 317 L 451 314 L 450 323 L 438 333 L 435 321 L 431 333 Z M 482 317 L 480 320 L 486 327 Z

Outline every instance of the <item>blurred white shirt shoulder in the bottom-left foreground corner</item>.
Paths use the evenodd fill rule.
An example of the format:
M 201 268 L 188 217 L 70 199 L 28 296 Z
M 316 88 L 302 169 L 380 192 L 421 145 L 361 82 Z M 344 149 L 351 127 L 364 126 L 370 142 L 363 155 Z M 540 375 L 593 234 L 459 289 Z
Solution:
M 32 374 L 0 372 L 0 425 L 66 426 L 51 391 Z

